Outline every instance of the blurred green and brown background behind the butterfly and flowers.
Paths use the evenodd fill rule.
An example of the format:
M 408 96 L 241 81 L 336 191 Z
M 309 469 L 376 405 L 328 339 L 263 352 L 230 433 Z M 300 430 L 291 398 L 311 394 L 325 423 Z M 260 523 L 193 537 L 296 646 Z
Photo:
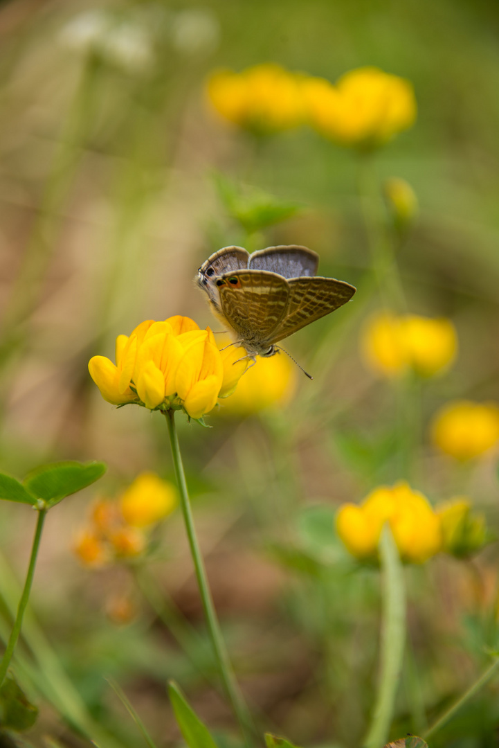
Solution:
M 2 2 L 1 469 L 23 476 L 43 461 L 102 459 L 102 491 L 144 469 L 171 477 L 164 423 L 141 408 L 116 412 L 87 361 L 112 358 L 117 334 L 143 319 L 183 314 L 213 324 L 193 276 L 208 254 L 244 241 L 214 174 L 299 203 L 297 216 L 258 237 L 261 247 L 307 245 L 323 275 L 362 283 L 371 260 L 352 153 L 305 127 L 255 149 L 208 106 L 211 70 L 275 61 L 331 81 L 376 65 L 415 86 L 418 120 L 380 150 L 376 170 L 380 180 L 408 180 L 421 206 L 399 257 L 409 307 L 450 316 L 460 340 L 459 361 L 421 406 L 416 487 L 433 500 L 460 487 L 462 476 L 430 447 L 426 423 L 449 398 L 498 396 L 498 34 L 498 4 L 486 1 Z M 318 381 L 298 378 L 286 408 L 244 421 L 214 417 L 209 432 L 181 427 L 208 573 L 244 691 L 264 727 L 306 746 L 359 744 L 374 693 L 378 579 L 344 571 L 335 506 L 399 477 L 393 392 L 358 352 L 359 325 L 379 300 L 361 292 L 354 302 L 359 313 L 347 323 L 338 312 L 338 321 L 323 319 L 290 343 Z M 494 459 L 466 480 L 498 527 Z M 50 516 L 34 588 L 50 646 L 90 714 L 123 745 L 140 737 L 106 675 L 120 681 L 159 746 L 179 741 L 164 690 L 170 677 L 221 745 L 233 744 L 223 700 L 152 609 L 139 601 L 128 625 L 106 615 L 112 595 L 135 594 L 126 569 L 87 571 L 73 559 L 72 533 L 96 490 Z M 1 554 L 19 575 L 32 524 L 29 509 L 0 506 Z M 158 589 L 203 642 L 179 517 L 161 540 L 152 563 Z M 413 732 L 421 710 L 428 719 L 441 711 L 483 668 L 484 647 L 497 646 L 496 555 L 491 547 L 477 562 L 479 592 L 476 568 L 457 562 L 409 570 L 416 665 L 406 667 L 394 737 Z M 9 579 L 0 567 L 4 598 Z M 43 705 L 28 738 L 80 744 L 36 677 L 25 681 Z M 492 747 L 498 723 L 491 688 L 435 744 Z

